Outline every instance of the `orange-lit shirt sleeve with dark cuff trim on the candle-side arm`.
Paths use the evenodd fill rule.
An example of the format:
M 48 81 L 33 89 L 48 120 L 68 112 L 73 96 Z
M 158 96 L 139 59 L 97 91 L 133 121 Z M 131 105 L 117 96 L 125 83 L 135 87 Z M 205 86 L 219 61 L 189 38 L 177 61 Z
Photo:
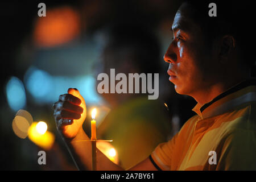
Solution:
M 150 155 L 152 164 L 158 170 L 170 170 L 172 154 L 178 133 L 168 142 L 160 143 Z

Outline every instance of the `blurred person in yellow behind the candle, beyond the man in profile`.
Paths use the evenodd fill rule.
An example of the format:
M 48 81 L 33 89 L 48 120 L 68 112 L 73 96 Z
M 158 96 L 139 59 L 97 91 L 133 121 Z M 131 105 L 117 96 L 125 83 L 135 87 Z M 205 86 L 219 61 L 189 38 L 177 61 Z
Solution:
M 110 76 L 110 68 L 115 69 L 115 75 L 125 73 L 126 76 L 129 73 L 160 72 L 159 44 L 145 26 L 128 21 L 116 23 L 106 29 L 103 37 L 105 45 L 101 63 L 97 64 L 102 70 L 98 73 Z M 100 138 L 113 139 L 123 168 L 146 159 L 171 134 L 171 119 L 161 96 L 158 100 L 148 100 L 148 94 L 141 92 L 101 95 L 111 110 L 98 127 L 97 134 Z

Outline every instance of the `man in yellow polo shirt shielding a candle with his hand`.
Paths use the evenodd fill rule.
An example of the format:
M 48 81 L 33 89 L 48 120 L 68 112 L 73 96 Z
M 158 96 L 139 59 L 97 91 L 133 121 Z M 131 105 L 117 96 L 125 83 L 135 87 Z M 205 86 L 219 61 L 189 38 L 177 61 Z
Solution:
M 250 52 L 243 49 L 251 48 L 253 34 L 244 31 L 250 30 L 249 24 L 241 27 L 241 22 L 234 28 L 232 19 L 240 23 L 247 17 L 236 19 L 233 15 L 245 11 L 233 12 L 237 9 L 232 3 L 217 2 L 217 17 L 210 17 L 209 3 L 187 1 L 180 6 L 172 23 L 174 40 L 164 55 L 176 92 L 197 101 L 193 108 L 197 114 L 175 137 L 159 144 L 130 170 L 256 169 L 256 81 L 250 78 L 253 61 L 246 57 Z M 85 102 L 78 90 L 69 89 L 68 93 L 56 102 L 55 119 L 82 169 L 91 165 L 90 143 L 76 142 L 89 139 L 81 129 Z M 69 123 L 69 119 L 78 120 Z M 98 170 L 122 169 L 100 151 L 97 157 Z

